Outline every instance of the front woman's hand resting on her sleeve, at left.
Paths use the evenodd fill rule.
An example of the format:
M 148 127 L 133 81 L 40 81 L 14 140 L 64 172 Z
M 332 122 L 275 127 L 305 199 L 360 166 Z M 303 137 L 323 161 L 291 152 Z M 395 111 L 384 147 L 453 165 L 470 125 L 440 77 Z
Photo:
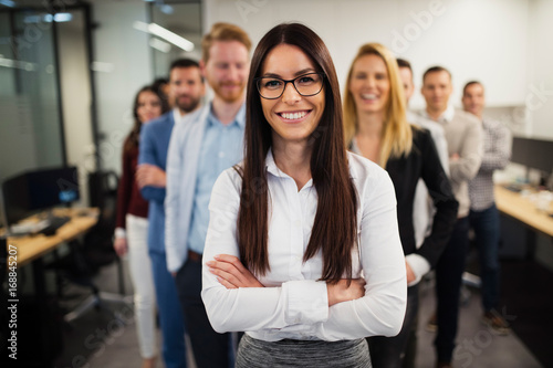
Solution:
M 233 255 L 219 254 L 215 261 L 206 262 L 209 271 L 227 288 L 264 287 L 253 274 Z

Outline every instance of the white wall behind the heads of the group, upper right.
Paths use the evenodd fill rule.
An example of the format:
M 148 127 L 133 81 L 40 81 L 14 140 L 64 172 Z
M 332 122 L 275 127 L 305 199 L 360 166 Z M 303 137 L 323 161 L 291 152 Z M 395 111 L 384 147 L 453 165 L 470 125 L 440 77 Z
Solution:
M 204 24 L 236 23 L 255 44 L 273 25 L 300 21 L 325 41 L 342 84 L 358 46 L 380 42 L 413 63 L 417 87 L 440 64 L 453 74 L 455 104 L 476 78 L 489 105 L 503 106 L 524 101 L 528 12 L 528 0 L 206 0 Z M 424 106 L 418 93 L 411 104 Z

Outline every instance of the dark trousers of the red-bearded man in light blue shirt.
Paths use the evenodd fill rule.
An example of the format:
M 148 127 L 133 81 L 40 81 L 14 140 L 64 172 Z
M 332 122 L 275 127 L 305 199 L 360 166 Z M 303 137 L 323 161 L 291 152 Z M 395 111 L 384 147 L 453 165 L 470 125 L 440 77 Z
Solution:
M 176 283 L 198 368 L 228 368 L 230 334 L 215 332 L 201 301 L 201 263 L 187 260 Z

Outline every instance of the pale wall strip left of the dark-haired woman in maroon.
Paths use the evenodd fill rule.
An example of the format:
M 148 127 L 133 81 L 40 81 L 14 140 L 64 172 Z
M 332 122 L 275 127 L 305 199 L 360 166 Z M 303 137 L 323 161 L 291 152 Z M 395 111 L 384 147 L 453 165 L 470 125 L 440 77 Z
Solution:
M 121 172 L 123 141 L 133 125 L 133 101 L 138 90 L 153 82 L 148 35 L 133 28 L 147 21 L 144 1 L 97 2 L 93 7 L 94 75 L 102 168 Z

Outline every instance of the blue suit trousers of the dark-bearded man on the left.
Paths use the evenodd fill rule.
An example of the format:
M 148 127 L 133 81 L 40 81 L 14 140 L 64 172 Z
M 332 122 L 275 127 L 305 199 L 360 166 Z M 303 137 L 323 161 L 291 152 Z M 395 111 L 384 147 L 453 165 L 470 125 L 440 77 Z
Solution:
M 167 271 L 165 253 L 149 252 L 156 287 L 165 367 L 186 368 L 185 323 L 175 280 Z

